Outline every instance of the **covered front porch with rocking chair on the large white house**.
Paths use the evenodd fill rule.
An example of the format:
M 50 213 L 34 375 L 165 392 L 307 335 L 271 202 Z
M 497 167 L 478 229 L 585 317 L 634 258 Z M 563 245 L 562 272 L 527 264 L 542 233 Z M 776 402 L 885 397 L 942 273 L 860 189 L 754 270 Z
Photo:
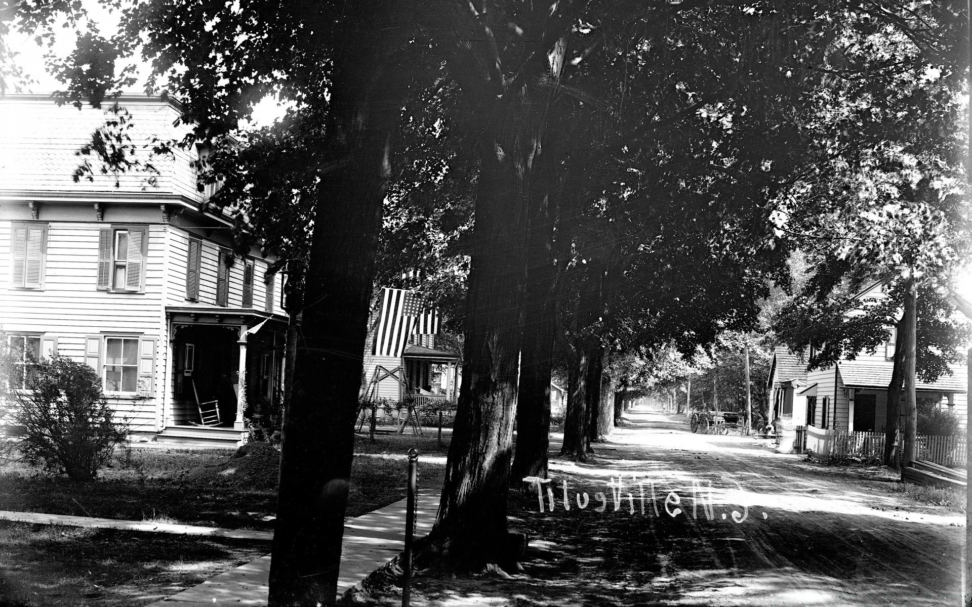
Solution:
M 286 321 L 251 310 L 168 309 L 164 428 L 157 440 L 230 445 L 278 425 Z

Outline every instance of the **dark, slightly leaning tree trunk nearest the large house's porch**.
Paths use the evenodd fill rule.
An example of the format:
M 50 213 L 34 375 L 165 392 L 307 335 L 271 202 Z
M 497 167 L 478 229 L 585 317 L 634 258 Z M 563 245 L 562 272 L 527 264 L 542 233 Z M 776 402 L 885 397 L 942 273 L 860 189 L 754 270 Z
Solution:
M 271 607 L 330 605 L 336 598 L 390 137 L 399 123 L 401 71 L 382 54 L 388 51 L 375 43 L 368 52 L 334 58 L 322 148 L 350 161 L 325 176 L 315 209 L 284 411 Z

